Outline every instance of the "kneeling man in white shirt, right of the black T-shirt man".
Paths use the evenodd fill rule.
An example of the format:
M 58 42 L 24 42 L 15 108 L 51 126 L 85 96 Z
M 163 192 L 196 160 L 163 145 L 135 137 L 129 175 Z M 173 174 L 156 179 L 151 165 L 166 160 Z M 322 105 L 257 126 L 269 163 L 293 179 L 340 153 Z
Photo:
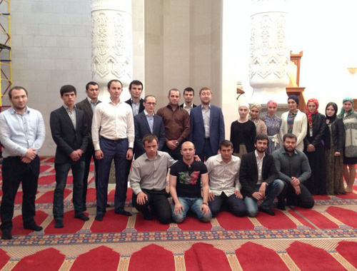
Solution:
M 206 161 L 209 174 L 208 205 L 213 218 L 221 212 L 223 205 L 236 216 L 246 215 L 239 183 L 241 159 L 233 156 L 233 144 L 223 140 L 219 144 L 220 154 L 211 156 Z

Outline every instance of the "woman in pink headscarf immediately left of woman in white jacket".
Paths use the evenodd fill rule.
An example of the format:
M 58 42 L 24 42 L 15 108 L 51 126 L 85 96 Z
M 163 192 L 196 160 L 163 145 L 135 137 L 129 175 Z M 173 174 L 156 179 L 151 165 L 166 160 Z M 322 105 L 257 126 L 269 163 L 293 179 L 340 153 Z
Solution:
M 268 109 L 268 112 L 261 118 L 261 120 L 266 123 L 266 131 L 269 138 L 268 150 L 266 151 L 271 154 L 274 150 L 278 150 L 280 148 L 278 137 L 281 126 L 281 118 L 276 116 L 278 103 L 272 100 L 268 101 L 266 108 Z

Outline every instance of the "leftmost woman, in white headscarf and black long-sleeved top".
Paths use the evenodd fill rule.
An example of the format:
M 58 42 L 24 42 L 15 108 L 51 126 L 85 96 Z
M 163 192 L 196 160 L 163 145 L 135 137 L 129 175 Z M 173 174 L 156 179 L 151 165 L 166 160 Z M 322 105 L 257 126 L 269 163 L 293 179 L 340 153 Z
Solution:
M 238 113 L 238 120 L 231 124 L 231 143 L 233 143 L 233 155 L 242 158 L 243 154 L 255 149 L 256 126 L 248 119 L 248 103 L 241 103 L 238 106 Z

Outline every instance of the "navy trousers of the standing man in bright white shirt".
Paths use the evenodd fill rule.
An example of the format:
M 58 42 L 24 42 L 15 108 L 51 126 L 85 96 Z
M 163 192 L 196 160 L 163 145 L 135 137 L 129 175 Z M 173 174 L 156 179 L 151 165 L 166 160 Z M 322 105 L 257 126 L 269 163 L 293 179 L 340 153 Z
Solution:
M 104 158 L 98 161 L 98 184 L 96 190 L 96 214 L 106 213 L 106 203 L 108 201 L 108 183 L 111 170 L 111 161 L 115 164 L 115 195 L 114 208 L 116 212 L 124 210 L 126 200 L 126 190 L 128 189 L 128 178 L 126 175 L 126 152 L 129 148 L 128 139 L 109 140 L 101 138 L 99 141 Z

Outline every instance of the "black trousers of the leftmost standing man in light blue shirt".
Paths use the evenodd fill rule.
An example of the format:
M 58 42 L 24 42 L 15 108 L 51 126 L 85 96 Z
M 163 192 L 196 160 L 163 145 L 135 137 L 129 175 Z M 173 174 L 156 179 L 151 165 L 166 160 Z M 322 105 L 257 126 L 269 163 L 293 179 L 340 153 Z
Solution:
M 4 158 L 2 163 L 2 200 L 1 200 L 1 230 L 12 229 L 14 216 L 14 201 L 20 183 L 22 183 L 22 220 L 24 225 L 35 223 L 35 199 L 40 173 L 40 159 L 36 155 L 31 163 L 22 163 L 21 157 Z

